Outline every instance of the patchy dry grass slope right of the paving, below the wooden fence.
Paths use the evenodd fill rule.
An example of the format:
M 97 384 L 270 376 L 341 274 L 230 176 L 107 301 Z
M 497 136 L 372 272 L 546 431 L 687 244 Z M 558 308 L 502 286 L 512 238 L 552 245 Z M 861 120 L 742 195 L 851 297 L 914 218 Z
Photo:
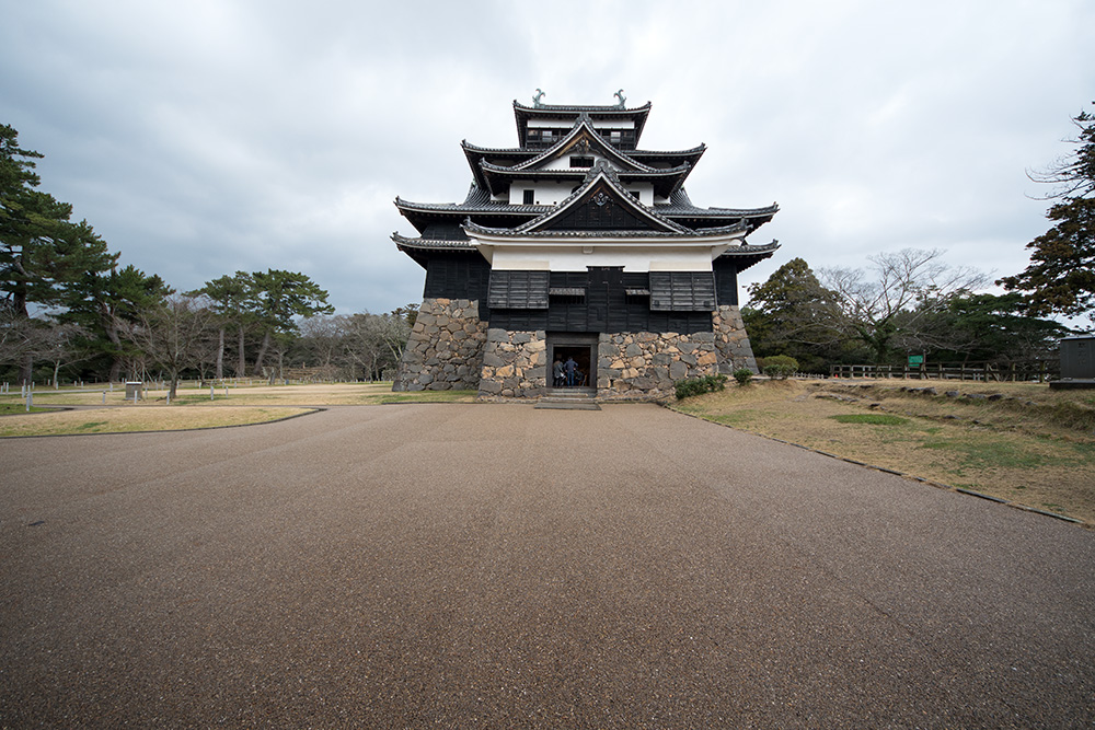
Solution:
M 932 385 L 936 395 L 901 391 L 900 383 L 761 382 L 676 407 L 1095 524 L 1095 429 L 1088 427 L 1095 396 L 1029 383 L 904 386 Z M 948 390 L 958 395 L 946 396 Z

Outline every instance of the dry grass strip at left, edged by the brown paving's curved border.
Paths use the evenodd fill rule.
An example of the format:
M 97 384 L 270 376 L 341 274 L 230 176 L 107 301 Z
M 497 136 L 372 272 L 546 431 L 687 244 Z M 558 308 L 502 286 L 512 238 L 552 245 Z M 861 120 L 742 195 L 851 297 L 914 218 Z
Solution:
M 310 408 L 218 408 L 208 406 L 84 408 L 4 417 L 0 419 L 0 437 L 178 431 L 265 424 L 307 413 L 313 412 Z

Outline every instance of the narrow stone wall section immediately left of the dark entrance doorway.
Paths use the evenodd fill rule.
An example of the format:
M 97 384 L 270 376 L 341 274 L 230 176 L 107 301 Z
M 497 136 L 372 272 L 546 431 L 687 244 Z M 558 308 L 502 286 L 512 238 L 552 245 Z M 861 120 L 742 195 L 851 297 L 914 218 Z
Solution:
M 480 372 L 480 398 L 534 398 L 548 391 L 548 338 L 542 329 L 488 329 Z

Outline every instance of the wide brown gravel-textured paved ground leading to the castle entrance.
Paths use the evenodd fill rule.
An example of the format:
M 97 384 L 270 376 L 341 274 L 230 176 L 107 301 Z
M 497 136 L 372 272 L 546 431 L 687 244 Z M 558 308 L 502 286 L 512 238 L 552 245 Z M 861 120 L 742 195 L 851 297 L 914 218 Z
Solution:
M 655 406 L 0 442 L 0 727 L 1093 722 L 1095 533 Z

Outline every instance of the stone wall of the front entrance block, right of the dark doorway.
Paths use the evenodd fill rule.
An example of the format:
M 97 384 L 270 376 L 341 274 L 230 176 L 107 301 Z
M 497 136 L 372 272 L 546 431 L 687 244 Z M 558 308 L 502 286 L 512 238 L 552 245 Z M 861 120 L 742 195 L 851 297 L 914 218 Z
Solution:
M 714 333 L 603 334 L 597 347 L 597 397 L 656 399 L 671 395 L 675 381 L 717 371 Z

